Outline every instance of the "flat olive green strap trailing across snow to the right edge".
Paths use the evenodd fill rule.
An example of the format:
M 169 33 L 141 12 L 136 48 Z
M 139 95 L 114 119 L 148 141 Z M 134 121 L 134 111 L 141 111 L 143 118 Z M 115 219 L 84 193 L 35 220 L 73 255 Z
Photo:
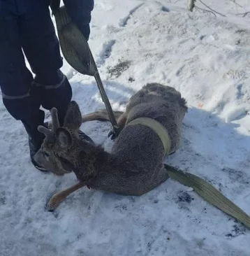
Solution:
M 200 195 L 209 204 L 216 206 L 224 213 L 232 216 L 236 220 L 242 222 L 246 227 L 250 229 L 250 216 L 247 215 L 241 208 L 235 205 L 232 201 L 227 199 L 219 190 L 216 190 L 214 186 L 209 184 L 206 180 L 199 178 L 191 173 L 184 173 L 173 166 L 165 164 L 168 175 L 173 180 L 177 180 L 183 185 L 193 187 L 193 190 Z

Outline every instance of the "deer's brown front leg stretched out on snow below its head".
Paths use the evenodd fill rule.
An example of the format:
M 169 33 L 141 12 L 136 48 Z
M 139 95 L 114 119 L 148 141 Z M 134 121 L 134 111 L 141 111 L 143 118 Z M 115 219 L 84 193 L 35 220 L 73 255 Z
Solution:
M 87 185 L 87 183 L 80 181 L 79 183 L 73 185 L 72 187 L 69 187 L 66 190 L 54 194 L 51 197 L 50 201 L 48 201 L 47 203 L 47 210 L 54 211 L 54 209 L 57 208 L 57 206 L 59 206 L 61 201 L 64 201 L 64 199 L 66 199 L 66 197 L 68 197 L 69 194 L 75 192 L 76 190 L 79 190 L 81 187 L 84 187 L 85 185 Z

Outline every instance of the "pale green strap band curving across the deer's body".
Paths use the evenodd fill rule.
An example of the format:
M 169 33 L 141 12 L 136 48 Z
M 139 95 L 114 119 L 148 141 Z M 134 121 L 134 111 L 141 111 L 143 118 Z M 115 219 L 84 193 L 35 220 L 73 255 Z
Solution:
M 131 122 L 128 122 L 126 125 L 145 125 L 151 128 L 156 134 L 160 137 L 161 142 L 163 144 L 165 155 L 168 155 L 171 148 L 171 140 L 168 135 L 168 131 L 160 122 L 152 119 L 152 118 L 136 118 Z

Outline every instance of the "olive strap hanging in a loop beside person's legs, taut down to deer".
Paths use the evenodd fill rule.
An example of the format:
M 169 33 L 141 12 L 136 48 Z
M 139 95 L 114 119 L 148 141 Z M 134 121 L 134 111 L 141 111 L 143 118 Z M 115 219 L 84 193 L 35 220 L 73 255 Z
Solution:
M 105 108 L 108 111 L 108 116 L 112 124 L 112 134 L 118 136 L 120 129 L 117 125 L 117 121 L 115 120 L 115 115 L 112 111 L 112 107 L 110 106 L 110 101 L 108 100 L 107 94 L 104 90 L 89 44 L 84 38 L 82 32 L 71 21 L 71 18 L 66 12 L 66 8 L 64 6 L 59 7 L 59 2 L 60 1 L 58 0 L 52 1 L 50 7 L 52 8 L 52 14 L 55 17 L 57 24 L 61 52 L 73 69 L 83 75 L 94 76 L 98 90 L 100 91 L 105 104 Z

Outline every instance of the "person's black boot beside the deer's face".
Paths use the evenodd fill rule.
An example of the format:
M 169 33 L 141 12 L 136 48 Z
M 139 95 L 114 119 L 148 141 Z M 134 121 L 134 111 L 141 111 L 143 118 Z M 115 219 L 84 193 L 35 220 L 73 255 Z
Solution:
M 24 125 L 27 134 L 29 136 L 29 153 L 31 157 L 31 162 L 34 164 L 36 169 L 40 171 L 47 171 L 44 169 L 42 166 L 39 166 L 35 160 L 34 160 L 34 155 L 38 150 L 41 148 L 41 145 L 43 143 L 43 140 L 45 138 L 44 134 L 42 134 L 40 131 L 38 131 L 38 125 L 43 125 L 44 124 L 44 117 L 45 114 L 43 111 L 39 111 L 39 115 L 37 117 L 32 118 L 32 120 L 22 120 L 22 124 Z

